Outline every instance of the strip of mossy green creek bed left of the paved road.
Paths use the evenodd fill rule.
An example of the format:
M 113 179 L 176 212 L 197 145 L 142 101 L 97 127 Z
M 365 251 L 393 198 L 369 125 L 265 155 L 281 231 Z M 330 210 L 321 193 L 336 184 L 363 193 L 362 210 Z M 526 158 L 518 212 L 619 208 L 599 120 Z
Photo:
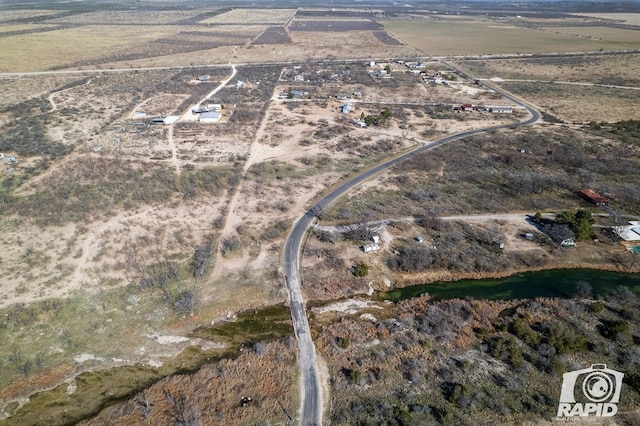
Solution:
M 177 357 L 165 360 L 165 364 L 159 368 L 136 364 L 80 374 L 75 380 L 77 389 L 73 393 L 67 393 L 67 384 L 40 392 L 4 424 L 37 425 L 43 421 L 50 425 L 76 423 L 98 413 L 108 404 L 132 397 L 164 377 L 192 373 L 203 365 L 236 356 L 243 345 L 292 334 L 291 314 L 284 305 L 242 312 L 234 322 L 201 327 L 190 335 L 222 340 L 228 344 L 224 350 L 202 350 L 192 346 Z

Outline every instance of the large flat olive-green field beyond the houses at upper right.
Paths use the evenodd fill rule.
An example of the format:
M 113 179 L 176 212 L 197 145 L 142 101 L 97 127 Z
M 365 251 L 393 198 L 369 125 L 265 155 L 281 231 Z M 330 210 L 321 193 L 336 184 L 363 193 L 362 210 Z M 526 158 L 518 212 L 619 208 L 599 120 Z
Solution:
M 430 55 L 575 52 L 628 49 L 629 43 L 592 40 L 487 22 L 381 22 Z M 636 45 L 640 46 L 640 38 Z

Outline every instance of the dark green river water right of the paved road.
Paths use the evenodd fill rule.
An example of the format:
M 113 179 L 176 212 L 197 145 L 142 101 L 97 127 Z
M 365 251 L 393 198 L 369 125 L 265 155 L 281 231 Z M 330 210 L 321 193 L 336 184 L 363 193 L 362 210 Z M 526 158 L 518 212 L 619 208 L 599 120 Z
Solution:
M 595 269 L 551 269 L 526 272 L 506 278 L 435 282 L 399 288 L 378 297 L 398 302 L 429 293 L 435 299 L 473 297 L 474 299 L 509 300 L 536 297 L 572 297 L 579 282 L 588 283 L 594 297 L 606 296 L 620 286 L 640 295 L 640 274 Z

